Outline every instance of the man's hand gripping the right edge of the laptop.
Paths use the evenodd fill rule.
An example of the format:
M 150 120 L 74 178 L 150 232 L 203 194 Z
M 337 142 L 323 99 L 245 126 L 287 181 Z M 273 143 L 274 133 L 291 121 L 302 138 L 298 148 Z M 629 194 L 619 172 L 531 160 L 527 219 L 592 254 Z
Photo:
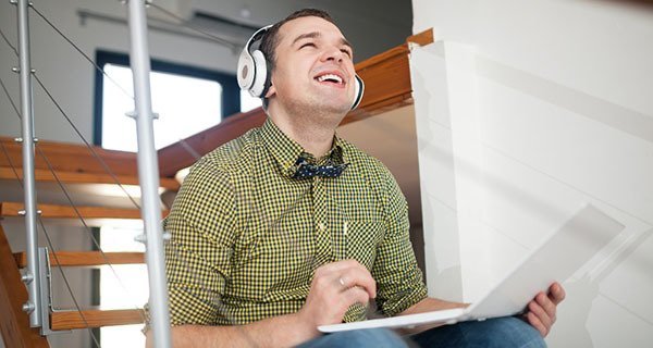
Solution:
M 525 320 L 535 327 L 542 337 L 546 337 L 555 323 L 557 304 L 564 299 L 565 289 L 558 283 L 554 283 L 549 288 L 549 294 L 540 293 L 528 303 Z

